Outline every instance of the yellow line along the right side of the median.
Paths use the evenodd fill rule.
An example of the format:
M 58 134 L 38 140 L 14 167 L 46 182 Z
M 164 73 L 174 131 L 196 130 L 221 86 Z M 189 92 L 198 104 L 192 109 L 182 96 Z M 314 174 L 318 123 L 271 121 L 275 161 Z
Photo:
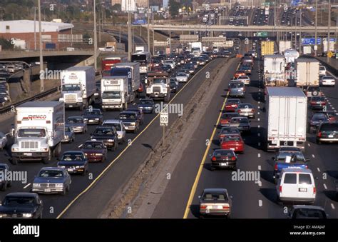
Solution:
M 239 67 L 240 67 L 240 64 L 238 64 L 237 70 L 238 70 Z M 202 161 L 200 162 L 200 167 L 198 168 L 198 173 L 197 173 L 197 175 L 195 177 L 195 181 L 193 183 L 193 187 L 191 188 L 190 196 L 189 196 L 189 199 L 188 199 L 187 206 L 185 206 L 185 212 L 184 212 L 183 218 L 188 218 L 188 215 L 189 215 L 189 212 L 190 212 L 190 206 L 191 206 L 191 203 L 193 203 L 193 198 L 194 198 L 195 193 L 196 193 L 196 188 L 198 186 L 198 182 L 200 181 L 200 175 L 202 174 L 202 171 L 203 171 L 203 166 L 204 166 L 204 163 L 205 163 L 205 159 L 208 156 L 208 153 L 209 153 L 209 150 L 210 150 L 210 146 L 211 146 L 212 140 L 213 140 L 213 138 L 215 136 L 215 133 L 216 133 L 216 130 L 217 130 L 217 126 L 220 123 L 220 118 L 222 116 L 222 111 L 224 110 L 225 103 L 227 102 L 227 97 L 228 96 L 229 96 L 229 91 L 227 91 L 227 96 L 225 96 L 225 99 L 224 99 L 223 104 L 222 104 L 222 109 L 220 109 L 220 114 L 218 115 L 216 126 L 213 129 L 213 131 L 212 131 L 211 137 L 209 139 L 208 146 L 205 149 L 204 156 L 202 158 Z

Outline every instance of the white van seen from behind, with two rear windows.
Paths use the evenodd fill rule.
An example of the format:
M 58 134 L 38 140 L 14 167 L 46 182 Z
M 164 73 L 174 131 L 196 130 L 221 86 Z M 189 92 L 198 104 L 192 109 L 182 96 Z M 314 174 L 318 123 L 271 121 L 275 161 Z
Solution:
M 314 203 L 316 186 L 312 171 L 300 168 L 282 169 L 277 186 L 277 200 Z

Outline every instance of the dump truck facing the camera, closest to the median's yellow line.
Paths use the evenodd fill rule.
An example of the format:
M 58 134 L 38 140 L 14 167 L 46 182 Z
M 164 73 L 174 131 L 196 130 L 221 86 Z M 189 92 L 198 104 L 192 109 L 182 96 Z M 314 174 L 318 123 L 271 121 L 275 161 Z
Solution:
M 165 102 L 170 100 L 170 79 L 167 72 L 149 72 L 146 95 Z

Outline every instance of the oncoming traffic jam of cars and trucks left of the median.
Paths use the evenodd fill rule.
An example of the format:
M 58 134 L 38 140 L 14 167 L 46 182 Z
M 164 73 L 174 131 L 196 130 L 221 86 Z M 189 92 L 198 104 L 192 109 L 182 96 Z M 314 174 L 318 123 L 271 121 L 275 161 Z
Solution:
M 8 133 L 14 143 L 10 146 L 7 135 L 0 133 L 1 149 L 11 153 L 11 164 L 0 163 L 0 171 L 31 162 L 43 167 L 22 192 L 11 193 L 12 183 L 1 180 L 1 191 L 9 193 L 3 197 L 0 218 L 42 218 L 44 199 L 67 196 L 74 183 L 86 179 L 78 175 L 91 176 L 98 163 L 110 161 L 109 153 L 126 148 L 153 119 L 156 104 L 168 103 L 203 66 L 225 57 L 198 46 L 195 43 L 193 52 L 153 57 L 136 49 L 131 62 L 124 56 L 104 58 L 100 81 L 93 67 L 73 66 L 62 73 L 58 101 L 17 106 Z M 34 208 L 29 207 L 33 203 Z

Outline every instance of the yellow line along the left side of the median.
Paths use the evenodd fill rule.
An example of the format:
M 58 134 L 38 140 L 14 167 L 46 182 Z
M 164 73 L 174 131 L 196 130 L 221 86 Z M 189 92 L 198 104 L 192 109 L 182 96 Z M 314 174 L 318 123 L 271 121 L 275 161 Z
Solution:
M 211 63 L 211 62 L 210 62 Z M 209 63 L 209 64 L 210 64 Z M 208 64 L 207 65 L 205 65 L 205 66 L 203 66 L 203 68 L 202 69 L 200 69 L 200 71 L 203 71 L 203 69 L 205 69 L 206 67 L 208 66 Z M 190 83 L 190 81 L 193 81 L 193 79 L 195 78 L 195 76 L 197 76 L 197 74 L 199 74 L 200 73 L 200 71 L 198 71 L 198 72 L 196 72 L 196 74 L 182 87 L 182 89 L 180 89 L 180 91 L 178 91 L 178 93 L 177 94 L 175 94 L 175 96 L 173 97 L 173 99 L 171 99 L 170 101 L 169 101 L 169 103 L 168 104 L 170 104 L 172 101 L 174 101 L 175 100 L 175 98 L 176 98 L 176 96 L 178 96 L 178 94 L 180 94 L 180 92 L 181 91 L 183 91 L 183 89 L 185 89 L 185 87 L 186 86 L 188 86 L 188 84 Z M 153 118 L 151 121 L 150 121 L 150 123 L 148 123 L 148 125 L 147 126 L 145 126 L 145 128 L 143 129 L 143 131 L 141 131 L 140 133 L 138 133 L 138 135 L 135 137 L 135 138 L 133 138 L 133 140 L 129 143 L 129 145 L 128 146 L 126 146 L 126 148 L 124 148 L 123 149 L 123 151 L 121 151 L 121 153 L 119 153 L 118 154 L 118 156 L 116 157 L 116 158 L 114 158 L 113 159 L 113 161 L 111 161 L 111 163 L 109 163 L 109 165 L 103 170 L 103 171 L 101 171 L 101 173 L 98 175 L 98 177 L 97 178 L 95 178 L 83 191 L 81 191 L 81 193 L 78 193 L 78 196 L 76 196 L 70 203 L 68 203 L 68 205 L 66 206 L 66 208 L 64 208 L 63 209 L 63 211 L 61 211 L 61 213 L 60 214 L 58 214 L 58 216 L 56 217 L 57 219 L 58 218 L 61 218 L 61 216 L 63 216 L 63 214 L 64 213 L 66 213 L 66 211 L 68 210 L 68 208 L 70 208 L 72 205 L 73 205 L 73 203 L 75 203 L 75 201 L 76 200 L 78 200 L 78 198 L 80 198 L 84 193 L 86 193 L 88 190 L 89 190 L 89 188 L 91 188 L 103 175 L 104 175 L 104 173 L 106 173 L 106 171 L 108 171 L 108 169 L 109 168 L 111 168 L 111 166 L 113 166 L 113 163 L 115 163 L 117 160 L 118 160 L 118 158 L 120 158 L 122 155 L 123 155 L 123 153 L 125 153 L 126 152 L 126 150 L 129 148 L 129 146 L 131 146 L 131 144 L 145 131 L 145 130 L 147 130 L 148 129 L 148 127 L 150 126 L 150 124 L 151 123 L 153 123 L 153 121 L 155 121 L 155 119 L 157 119 L 158 118 L 158 116 L 160 116 L 160 114 L 158 114 L 158 115 L 156 115 L 155 116 L 155 118 Z

